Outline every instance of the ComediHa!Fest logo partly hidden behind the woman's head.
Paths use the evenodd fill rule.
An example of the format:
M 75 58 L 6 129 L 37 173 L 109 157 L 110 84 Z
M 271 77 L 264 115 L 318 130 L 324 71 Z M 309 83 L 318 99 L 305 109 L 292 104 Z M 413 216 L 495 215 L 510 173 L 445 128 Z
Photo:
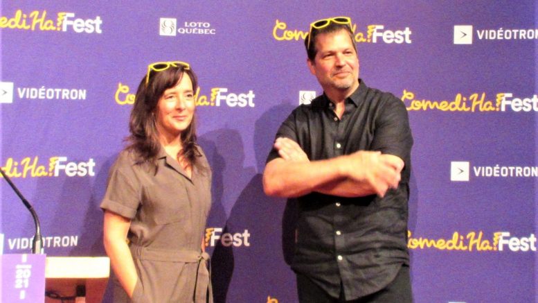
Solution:
M 133 104 L 135 95 L 129 92 L 129 86 L 118 83 L 118 89 L 114 94 L 114 99 L 119 105 Z M 248 92 L 230 92 L 226 87 L 213 87 L 209 98 L 200 94 L 200 87 L 195 92 L 196 106 L 215 107 L 255 107 L 255 94 L 252 89 Z

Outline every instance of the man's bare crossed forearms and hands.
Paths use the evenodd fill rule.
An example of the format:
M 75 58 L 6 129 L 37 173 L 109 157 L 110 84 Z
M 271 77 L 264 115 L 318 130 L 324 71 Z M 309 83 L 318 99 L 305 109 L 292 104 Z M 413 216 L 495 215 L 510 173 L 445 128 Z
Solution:
M 343 197 L 384 196 L 398 186 L 404 168 L 400 157 L 375 151 L 311 162 L 292 139 L 280 137 L 274 147 L 280 158 L 267 163 L 263 173 L 268 196 L 292 198 L 312 191 Z

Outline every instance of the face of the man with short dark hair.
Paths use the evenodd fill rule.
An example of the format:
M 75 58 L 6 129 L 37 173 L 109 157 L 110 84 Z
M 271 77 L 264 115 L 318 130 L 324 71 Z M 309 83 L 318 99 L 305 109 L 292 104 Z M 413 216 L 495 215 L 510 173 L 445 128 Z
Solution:
M 349 93 L 359 86 L 359 58 L 346 30 L 316 36 L 316 57 L 308 60 L 310 72 L 325 92 Z

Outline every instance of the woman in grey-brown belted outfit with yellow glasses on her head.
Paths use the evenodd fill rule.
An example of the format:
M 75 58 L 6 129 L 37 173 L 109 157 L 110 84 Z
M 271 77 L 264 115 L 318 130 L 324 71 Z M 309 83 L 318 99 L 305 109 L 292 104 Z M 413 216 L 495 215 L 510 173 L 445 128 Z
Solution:
M 114 302 L 213 302 L 200 245 L 211 171 L 196 144 L 196 89 L 195 73 L 179 61 L 150 64 L 138 86 L 130 144 L 100 205 Z

